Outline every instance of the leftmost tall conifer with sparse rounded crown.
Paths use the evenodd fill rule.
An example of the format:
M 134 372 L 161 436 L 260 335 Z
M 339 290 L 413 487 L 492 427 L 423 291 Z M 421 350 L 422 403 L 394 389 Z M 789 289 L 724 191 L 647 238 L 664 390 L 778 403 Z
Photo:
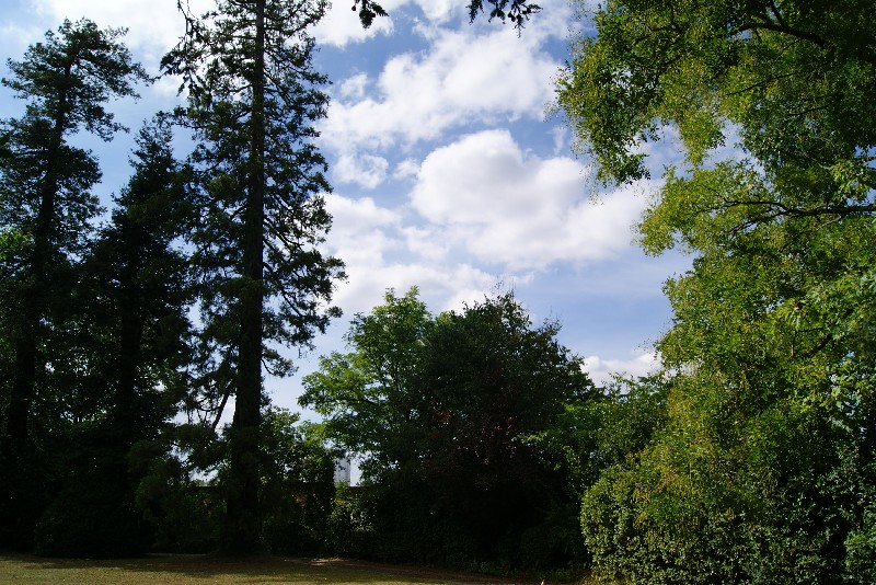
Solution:
M 42 404 L 51 404 L 48 378 L 65 369 L 58 335 L 65 332 L 73 266 L 99 209 L 89 192 L 100 179 L 97 162 L 69 139 L 83 130 L 112 139 L 122 126 L 105 110 L 106 102 L 136 97 L 135 84 L 149 81 L 119 42 L 124 33 L 102 31 L 88 20 L 65 21 L 57 33 L 46 33 L 44 43 L 31 46 L 23 60 L 10 60 L 12 77 L 2 80 L 27 101 L 24 115 L 3 121 L 0 128 L 0 226 L 21 236 L 20 245 L 3 254 L 3 321 L 9 325 L 3 335 L 11 355 L 2 376 L 0 437 L 3 468 L 18 470 L 7 474 L 0 490 L 4 532 L 11 529 L 18 543 L 30 541 L 33 517 L 27 516 L 39 492 L 26 486 L 32 447 L 41 441 L 31 426 L 35 398 L 39 393 L 46 398 Z M 57 355 L 47 347 L 57 348 Z

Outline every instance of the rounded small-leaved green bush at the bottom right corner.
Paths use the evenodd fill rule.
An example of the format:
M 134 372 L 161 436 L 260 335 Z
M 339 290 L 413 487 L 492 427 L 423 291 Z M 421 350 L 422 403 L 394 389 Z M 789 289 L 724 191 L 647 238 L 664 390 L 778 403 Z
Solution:
M 606 470 L 581 504 L 597 573 L 648 584 L 874 583 L 876 531 L 862 506 L 869 456 L 812 418 L 773 416 L 760 444 L 737 450 L 666 434 Z

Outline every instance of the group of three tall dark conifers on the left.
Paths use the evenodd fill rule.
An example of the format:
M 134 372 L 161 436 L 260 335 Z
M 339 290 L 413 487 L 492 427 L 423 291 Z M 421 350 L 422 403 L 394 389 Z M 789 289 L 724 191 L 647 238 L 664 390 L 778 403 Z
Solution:
M 0 167 L 5 544 L 143 550 L 149 527 L 135 503 L 161 505 L 138 490 L 161 467 L 155 458 L 183 452 L 200 470 L 229 461 L 222 548 L 261 546 L 260 460 L 272 428 L 263 363 L 290 369 L 279 345 L 307 345 L 325 328 L 343 276 L 318 251 L 328 185 L 312 124 L 326 99 L 306 28 L 324 8 L 234 2 L 189 16 L 164 60 L 188 106 L 140 131 L 132 176 L 100 228 L 99 161 L 70 139 L 111 140 L 124 128 L 106 103 L 151 80 L 123 31 L 88 20 L 9 61 L 3 84 L 25 114 L 2 123 Z M 184 161 L 174 126 L 197 140 Z M 217 404 L 230 397 L 234 418 L 218 437 Z M 211 425 L 178 424 L 209 409 Z

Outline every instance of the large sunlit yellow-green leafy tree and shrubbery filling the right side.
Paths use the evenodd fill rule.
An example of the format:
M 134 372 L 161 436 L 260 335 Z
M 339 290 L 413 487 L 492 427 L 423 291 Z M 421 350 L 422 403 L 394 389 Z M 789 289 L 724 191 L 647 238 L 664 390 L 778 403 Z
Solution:
M 876 484 L 872 8 L 612 1 L 560 79 L 607 182 L 678 137 L 639 229 L 695 254 L 666 287 L 667 428 L 585 496 L 607 573 L 865 580 L 846 566 Z

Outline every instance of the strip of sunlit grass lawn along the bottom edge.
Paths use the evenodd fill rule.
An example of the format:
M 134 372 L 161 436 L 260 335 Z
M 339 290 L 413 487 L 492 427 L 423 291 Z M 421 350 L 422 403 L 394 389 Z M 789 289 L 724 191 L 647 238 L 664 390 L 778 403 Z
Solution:
M 441 583 L 514 582 L 482 575 L 451 574 L 332 559 L 265 557 L 228 561 L 208 555 L 150 555 L 142 559 L 90 561 L 44 559 L 0 552 L 0 584 L 54 585 L 57 583 L 95 585 L 203 585 L 207 583 L 214 585 L 257 583 L 436 585 Z

